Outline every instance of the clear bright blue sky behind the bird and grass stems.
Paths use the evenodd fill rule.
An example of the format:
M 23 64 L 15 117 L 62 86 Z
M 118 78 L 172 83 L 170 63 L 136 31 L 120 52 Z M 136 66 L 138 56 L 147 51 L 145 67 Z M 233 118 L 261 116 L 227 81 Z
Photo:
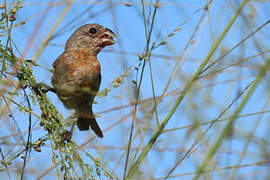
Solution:
M 33 32 L 37 27 L 37 35 L 34 37 L 31 46 L 29 46 L 29 51 L 24 56 L 25 59 L 31 59 L 35 55 L 38 47 L 48 35 L 60 13 L 64 9 L 63 4 L 53 4 L 48 8 L 48 2 L 50 1 L 23 1 L 24 6 L 16 15 L 16 22 L 26 20 L 24 25 L 19 26 L 13 31 L 13 40 L 21 52 L 25 47 L 28 47 L 28 40 L 31 35 L 33 35 Z M 34 67 L 34 75 L 36 76 L 36 79 L 39 82 L 50 84 L 52 74 L 48 69 L 52 68 L 54 60 L 63 52 L 64 44 L 68 37 L 80 25 L 87 23 L 99 23 L 116 32 L 117 44 L 111 47 L 106 47 L 98 55 L 98 59 L 100 60 L 102 67 L 102 83 L 100 89 L 103 90 L 104 88 L 110 87 L 112 90 L 108 96 L 96 98 L 97 104 L 94 105 L 93 110 L 95 113 L 98 113 L 114 107 L 130 104 L 130 102 L 135 99 L 134 84 L 132 83 L 132 80 L 136 80 L 136 70 L 134 69 L 134 66 L 139 65 L 137 55 L 143 53 L 146 40 L 140 1 L 129 2 L 131 5 L 126 6 L 121 3 L 121 1 L 112 1 L 112 5 L 110 7 L 108 5 L 108 1 L 75 1 L 71 9 L 61 21 L 60 25 L 57 27 L 55 36 L 53 36 L 53 39 L 49 41 L 48 46 L 37 59 L 37 63 L 40 64 L 40 66 Z M 197 23 L 205 12 L 203 7 L 206 2 L 207 1 L 205 0 L 161 1 L 162 4 L 157 11 L 150 44 L 153 42 L 161 42 L 164 40 L 164 37 L 173 32 L 177 27 L 180 27 L 181 30 L 175 32 L 174 36 L 166 39 L 168 42 L 166 45 L 160 46 L 152 52 L 151 65 L 156 96 L 159 96 L 163 92 L 173 66 L 177 60 L 175 57 L 180 56 L 183 52 L 192 32 L 195 30 Z M 167 91 L 172 94 L 169 94 L 168 97 L 166 97 L 158 106 L 159 121 L 162 121 L 165 118 L 171 109 L 173 102 L 178 97 L 180 90 L 183 89 L 186 82 L 191 78 L 191 75 L 200 65 L 203 58 L 205 58 L 213 41 L 218 38 L 239 4 L 240 1 L 238 0 L 213 2 L 209 13 L 206 13 L 202 19 L 201 25 L 192 39 L 193 42 L 185 51 L 177 68 L 178 71 L 172 79 Z M 149 5 L 146 5 L 145 7 L 146 14 L 148 15 L 150 9 Z M 46 8 L 49 10 L 47 11 Z M 153 11 L 154 8 L 151 6 L 151 13 L 153 13 Z M 239 16 L 235 21 L 231 30 L 224 38 L 211 60 L 215 60 L 222 53 L 232 48 L 245 36 L 269 20 L 269 13 L 267 13 L 269 11 L 270 5 L 267 1 L 249 3 L 249 5 L 243 10 L 243 16 Z M 243 21 L 243 17 L 246 18 L 246 22 Z M 38 23 L 40 23 L 39 26 L 37 26 Z M 270 39 L 269 28 L 269 25 L 263 27 L 261 31 L 229 53 L 228 56 L 215 64 L 203 75 L 223 68 L 234 62 L 239 62 L 243 58 L 257 55 L 260 52 L 268 50 Z M 120 52 L 126 53 L 121 54 Z M 266 53 L 265 57 L 268 57 L 268 55 L 269 53 Z M 193 87 L 194 89 L 187 94 L 184 101 L 177 108 L 165 129 L 182 127 L 196 122 L 206 122 L 216 118 L 237 96 L 237 93 L 243 90 L 251 80 L 255 78 L 259 67 L 264 64 L 265 60 L 266 59 L 262 56 L 254 57 L 248 61 L 240 63 L 240 65 L 228 67 L 218 74 L 209 75 L 198 80 Z M 122 83 L 118 88 L 112 88 L 110 83 L 115 78 L 121 76 L 129 67 L 132 68 L 129 71 L 128 76 L 124 79 L 124 83 Z M 140 74 L 142 66 L 138 67 Z M 269 77 L 263 79 L 259 88 L 256 89 L 254 95 L 242 111 L 242 114 L 263 111 L 267 110 L 267 107 L 269 108 L 269 104 L 267 103 L 269 98 L 267 91 L 268 79 Z M 30 94 L 30 91 L 27 92 Z M 48 93 L 48 97 L 65 118 L 72 114 L 72 111 L 65 109 L 54 94 Z M 151 97 L 153 97 L 152 85 L 149 62 L 147 62 L 140 92 L 140 99 L 144 100 Z M 23 105 L 26 105 L 23 99 L 18 98 L 18 101 Z M 234 112 L 239 102 L 240 101 L 237 101 L 237 103 L 234 104 L 228 113 L 226 113 L 222 118 L 229 117 L 230 114 Z M 136 148 L 141 143 L 141 139 L 143 137 L 142 128 L 146 127 L 147 123 L 149 123 L 149 129 L 145 132 L 146 136 L 142 141 L 142 145 L 145 145 L 149 141 L 156 128 L 155 117 L 144 120 L 152 105 L 153 102 L 148 102 L 138 106 L 137 121 L 135 123 L 135 134 L 137 135 L 137 138 L 133 143 L 133 148 Z M 34 111 L 38 114 L 38 107 L 34 107 Z M 13 107 L 13 111 L 19 127 L 22 130 L 25 130 L 27 125 L 25 125 L 25 121 L 22 118 L 25 115 L 18 111 L 16 107 Z M 128 108 L 122 108 L 100 114 L 100 117 L 97 119 L 101 129 L 103 130 L 121 119 L 123 119 L 123 121 L 112 129 L 105 131 L 103 139 L 95 139 L 86 146 L 86 150 L 89 153 L 94 155 L 94 157 L 99 158 L 120 178 L 122 178 L 125 160 L 125 151 L 123 147 L 128 143 L 128 135 L 132 120 L 130 113 L 132 111 L 133 107 L 130 106 Z M 223 141 L 220 151 L 218 151 L 217 155 L 214 156 L 213 164 L 217 163 L 217 166 L 212 164 L 212 168 L 235 165 L 241 152 L 243 152 L 243 145 L 246 142 L 247 136 L 252 132 L 251 129 L 255 126 L 255 122 L 257 120 L 260 123 L 253 134 L 254 137 L 248 148 L 248 153 L 240 164 L 259 162 L 262 160 L 263 153 L 261 152 L 261 147 L 263 146 L 263 143 L 266 144 L 266 149 L 269 149 L 268 119 L 268 114 L 262 114 L 260 120 L 258 120 L 258 116 L 239 118 L 236 121 L 232 137 Z M 33 128 L 38 128 L 38 130 L 33 131 L 33 141 L 35 141 L 46 132 L 39 128 L 38 119 L 34 119 L 33 121 Z M 199 142 L 191 156 L 185 159 L 182 164 L 176 168 L 173 174 L 195 171 L 196 167 L 200 165 L 200 162 L 208 152 L 211 144 L 213 144 L 215 139 L 219 136 L 225 124 L 226 121 L 216 123 L 206 134 L 205 138 Z M 4 126 L 7 125 L 4 124 Z M 14 125 L 9 123 L 9 126 L 13 127 Z M 179 157 L 188 150 L 188 147 L 190 147 L 197 135 L 201 134 L 206 127 L 207 126 L 200 126 L 197 129 L 182 129 L 162 134 L 154 145 L 153 151 L 150 151 L 147 156 L 147 160 L 145 160 L 141 166 L 141 171 L 143 171 L 145 179 L 149 177 L 157 178 L 165 176 L 169 169 L 174 166 Z M 11 130 L 0 132 L 3 136 L 11 134 Z M 93 132 L 91 131 L 79 132 L 78 129 L 75 128 L 73 138 L 75 142 L 80 144 L 92 136 Z M 26 138 L 26 136 L 24 138 Z M 89 147 L 104 147 L 104 149 Z M 5 148 L 7 151 L 9 149 L 10 147 Z M 29 168 L 31 166 L 36 166 L 34 168 L 35 170 L 44 170 L 41 170 L 36 174 L 28 174 L 30 179 L 34 179 L 39 176 L 40 173 L 52 165 L 50 160 L 50 148 L 44 147 L 43 149 L 44 150 L 41 153 L 37 153 L 35 151 L 32 151 L 31 153 L 32 158 L 28 164 Z M 268 152 L 269 150 L 266 151 Z M 133 159 L 134 153 L 135 151 L 132 151 L 131 159 Z M 119 159 L 121 161 L 118 162 Z M 86 161 L 89 162 L 90 165 L 93 165 L 89 159 L 86 158 Z M 21 164 L 20 161 L 17 163 Z M 251 166 L 250 168 L 243 168 L 238 171 L 236 177 L 252 179 L 256 177 L 256 173 L 258 172 L 262 172 L 261 175 L 266 177 L 266 169 L 267 166 Z M 248 171 L 251 171 L 253 174 L 249 175 L 247 173 Z M 213 179 L 220 179 L 221 177 L 226 179 L 230 177 L 229 175 L 231 172 L 232 171 L 214 172 L 211 175 Z M 54 173 L 55 171 L 52 171 L 47 177 L 54 176 Z M 5 175 L 3 174 L 3 176 Z M 184 176 L 183 179 L 192 179 L 192 177 L 193 175 Z

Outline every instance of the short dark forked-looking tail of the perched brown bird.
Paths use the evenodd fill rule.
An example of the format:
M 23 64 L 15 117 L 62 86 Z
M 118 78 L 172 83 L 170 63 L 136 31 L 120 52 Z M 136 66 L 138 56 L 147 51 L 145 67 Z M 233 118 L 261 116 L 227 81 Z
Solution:
M 89 118 L 89 114 L 88 114 L 88 117 L 85 117 L 85 116 L 80 116 L 80 113 L 78 113 L 77 126 L 78 126 L 79 130 L 80 131 L 89 130 L 89 126 L 90 126 L 91 129 L 95 132 L 95 134 L 98 137 L 103 138 L 103 133 L 102 133 L 100 127 L 98 126 L 98 123 L 97 123 L 93 113 L 91 113 L 90 115 L 92 117 Z

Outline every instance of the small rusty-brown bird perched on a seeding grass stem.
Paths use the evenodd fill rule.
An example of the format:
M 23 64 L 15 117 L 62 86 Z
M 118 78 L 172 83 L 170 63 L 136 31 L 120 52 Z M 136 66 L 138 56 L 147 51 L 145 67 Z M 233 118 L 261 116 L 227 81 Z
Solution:
M 103 138 L 92 111 L 101 83 L 98 53 L 115 44 L 115 33 L 99 24 L 80 26 L 67 40 L 64 52 L 53 63 L 52 86 L 68 109 L 75 110 L 80 131 L 89 130 Z

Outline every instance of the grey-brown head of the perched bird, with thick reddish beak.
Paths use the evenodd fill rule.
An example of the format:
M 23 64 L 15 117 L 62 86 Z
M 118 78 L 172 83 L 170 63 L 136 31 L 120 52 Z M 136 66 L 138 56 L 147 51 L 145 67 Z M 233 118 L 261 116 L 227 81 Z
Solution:
M 115 43 L 115 34 L 99 24 L 85 24 L 79 27 L 68 39 L 65 49 L 88 49 L 98 54 L 105 46 Z

